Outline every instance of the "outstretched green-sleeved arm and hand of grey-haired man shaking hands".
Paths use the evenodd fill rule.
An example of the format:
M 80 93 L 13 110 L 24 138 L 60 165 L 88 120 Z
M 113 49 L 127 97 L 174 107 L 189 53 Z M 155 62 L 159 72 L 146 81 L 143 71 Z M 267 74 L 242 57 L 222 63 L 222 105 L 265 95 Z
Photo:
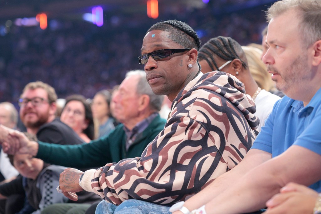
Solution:
M 31 154 L 51 164 L 68 167 L 97 167 L 111 162 L 108 138 L 100 138 L 81 145 L 58 145 L 30 141 L 23 133 L 14 131 L 10 133 L 8 139 L 10 145 L 18 146 L 15 149 L 4 148 L 4 152 Z

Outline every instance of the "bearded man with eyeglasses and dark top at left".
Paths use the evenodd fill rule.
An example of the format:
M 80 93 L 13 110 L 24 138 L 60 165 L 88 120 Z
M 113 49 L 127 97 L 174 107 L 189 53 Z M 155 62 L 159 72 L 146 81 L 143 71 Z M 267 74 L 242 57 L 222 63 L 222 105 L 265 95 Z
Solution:
M 20 118 L 27 132 L 40 141 L 56 144 L 81 144 L 84 141 L 65 123 L 56 118 L 55 89 L 41 81 L 25 86 L 18 100 Z

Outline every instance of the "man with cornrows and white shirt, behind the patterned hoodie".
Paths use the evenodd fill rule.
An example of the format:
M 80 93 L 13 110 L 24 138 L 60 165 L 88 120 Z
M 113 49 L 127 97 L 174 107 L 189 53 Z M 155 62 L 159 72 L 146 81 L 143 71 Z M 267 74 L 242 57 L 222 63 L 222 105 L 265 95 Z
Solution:
M 279 96 L 261 89 L 253 79 L 246 55 L 241 45 L 230 37 L 218 36 L 206 42 L 198 52 L 199 63 L 205 74 L 214 70 L 224 71 L 236 76 L 256 104 L 254 115 L 260 119 L 257 131 L 261 130 L 266 118 L 273 109 Z

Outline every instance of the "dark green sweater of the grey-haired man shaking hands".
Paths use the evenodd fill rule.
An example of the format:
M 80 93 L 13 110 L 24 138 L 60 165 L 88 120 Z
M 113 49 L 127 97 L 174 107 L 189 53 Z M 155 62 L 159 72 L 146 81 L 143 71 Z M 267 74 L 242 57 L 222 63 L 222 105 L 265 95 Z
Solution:
M 165 120 L 157 115 L 128 148 L 124 125 L 120 124 L 109 135 L 81 145 L 57 145 L 39 141 L 37 158 L 47 163 L 68 167 L 100 167 L 106 163 L 141 156 L 142 152 L 164 128 Z

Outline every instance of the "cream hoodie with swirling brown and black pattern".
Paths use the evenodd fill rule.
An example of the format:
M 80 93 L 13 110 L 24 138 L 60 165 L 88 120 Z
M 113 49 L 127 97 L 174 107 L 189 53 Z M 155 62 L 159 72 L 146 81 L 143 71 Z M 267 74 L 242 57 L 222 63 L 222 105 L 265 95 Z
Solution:
M 142 157 L 85 172 L 84 189 L 120 204 L 186 200 L 237 165 L 255 139 L 253 100 L 223 72 L 197 76 L 176 97 L 165 128 Z

